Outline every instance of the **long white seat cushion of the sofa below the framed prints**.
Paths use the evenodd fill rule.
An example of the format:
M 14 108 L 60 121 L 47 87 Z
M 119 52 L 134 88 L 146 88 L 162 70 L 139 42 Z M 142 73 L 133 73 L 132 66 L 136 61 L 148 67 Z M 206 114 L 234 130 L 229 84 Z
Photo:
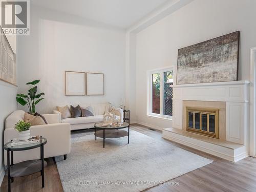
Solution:
M 103 115 L 95 115 L 90 117 L 77 117 L 77 118 L 67 118 L 62 119 L 61 123 L 70 123 L 70 124 L 83 124 L 83 123 L 96 123 L 102 122 Z

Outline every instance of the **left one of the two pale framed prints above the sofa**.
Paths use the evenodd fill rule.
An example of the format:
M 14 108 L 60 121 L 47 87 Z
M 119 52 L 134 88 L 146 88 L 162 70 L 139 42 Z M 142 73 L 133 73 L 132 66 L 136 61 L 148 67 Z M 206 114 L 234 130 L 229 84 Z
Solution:
M 86 95 L 86 73 L 65 71 L 66 95 Z

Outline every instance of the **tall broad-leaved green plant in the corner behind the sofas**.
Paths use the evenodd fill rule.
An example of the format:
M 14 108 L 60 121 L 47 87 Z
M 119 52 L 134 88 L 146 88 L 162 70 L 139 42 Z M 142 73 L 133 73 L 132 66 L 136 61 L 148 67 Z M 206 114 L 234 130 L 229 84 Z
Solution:
M 28 94 L 17 94 L 16 100 L 19 104 L 21 105 L 26 105 L 29 108 L 29 112 L 30 113 L 35 113 L 35 105 L 40 102 L 42 99 L 44 98 L 40 98 L 42 95 L 45 95 L 45 93 L 39 93 L 36 94 L 37 92 L 37 86 L 35 86 L 37 83 L 39 83 L 40 80 L 34 80 L 32 82 L 28 82 L 27 84 L 29 85 L 29 90 L 28 90 Z M 26 100 L 25 100 L 26 99 Z M 35 100 L 37 99 L 37 100 Z

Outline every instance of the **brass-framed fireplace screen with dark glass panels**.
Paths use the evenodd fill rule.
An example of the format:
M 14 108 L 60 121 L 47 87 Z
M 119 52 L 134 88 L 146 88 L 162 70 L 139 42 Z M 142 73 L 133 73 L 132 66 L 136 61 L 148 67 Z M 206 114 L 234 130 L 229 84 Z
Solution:
M 219 109 L 186 108 L 187 131 L 219 139 Z

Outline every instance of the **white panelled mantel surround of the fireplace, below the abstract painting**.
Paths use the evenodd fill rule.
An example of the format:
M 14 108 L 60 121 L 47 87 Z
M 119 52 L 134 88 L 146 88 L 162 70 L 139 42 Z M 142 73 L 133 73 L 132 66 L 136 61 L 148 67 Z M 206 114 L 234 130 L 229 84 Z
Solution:
M 247 80 L 241 80 L 172 86 L 173 128 L 182 130 L 183 100 L 225 102 L 226 141 L 243 146 L 236 152 L 239 155 L 237 154 L 237 157 L 232 158 L 241 159 L 248 156 L 249 83 Z M 183 144 L 186 143 L 186 141 L 182 142 Z

